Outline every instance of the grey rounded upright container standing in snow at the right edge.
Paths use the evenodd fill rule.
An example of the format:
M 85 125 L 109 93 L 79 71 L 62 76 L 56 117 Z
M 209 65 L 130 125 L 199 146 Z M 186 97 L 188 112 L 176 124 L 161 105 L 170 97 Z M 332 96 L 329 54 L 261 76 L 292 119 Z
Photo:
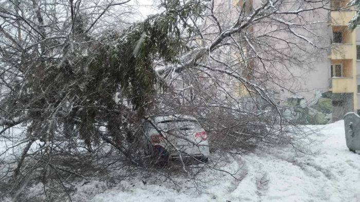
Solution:
M 344 116 L 346 146 L 350 151 L 360 150 L 360 116 L 349 112 Z

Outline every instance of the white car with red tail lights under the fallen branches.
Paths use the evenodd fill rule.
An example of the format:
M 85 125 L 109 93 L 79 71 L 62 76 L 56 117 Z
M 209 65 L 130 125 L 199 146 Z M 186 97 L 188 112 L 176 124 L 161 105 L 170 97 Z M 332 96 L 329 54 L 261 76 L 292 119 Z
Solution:
M 184 115 L 155 116 L 143 125 L 146 154 L 163 159 L 209 159 L 205 130 L 196 118 Z

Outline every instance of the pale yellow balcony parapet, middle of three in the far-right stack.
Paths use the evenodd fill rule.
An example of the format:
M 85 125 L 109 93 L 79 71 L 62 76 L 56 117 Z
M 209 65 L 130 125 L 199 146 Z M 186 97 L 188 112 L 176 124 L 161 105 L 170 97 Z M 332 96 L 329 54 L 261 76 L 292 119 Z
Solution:
M 331 59 L 354 59 L 356 56 L 352 44 L 332 44 Z

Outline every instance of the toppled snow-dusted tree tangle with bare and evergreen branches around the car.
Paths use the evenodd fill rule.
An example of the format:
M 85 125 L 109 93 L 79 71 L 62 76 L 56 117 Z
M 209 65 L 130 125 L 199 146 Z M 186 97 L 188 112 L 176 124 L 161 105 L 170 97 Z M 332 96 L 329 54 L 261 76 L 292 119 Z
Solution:
M 59 189 L 70 198 L 73 176 L 151 167 L 139 129 L 154 115 L 193 115 L 213 151 L 290 144 L 306 152 L 308 134 L 283 116 L 274 92 L 293 90 L 283 82 L 293 79 L 289 66 L 306 67 L 309 55 L 326 51 L 316 29 L 326 22 L 304 17 L 321 16 L 325 1 L 231 9 L 221 1 L 162 1 L 162 12 L 126 22 L 129 2 L 2 3 L 1 135 L 25 131 L 12 139 L 21 155 L 4 160 L 16 166 L 0 176 L 3 196 L 15 199 L 37 179 L 48 199 Z

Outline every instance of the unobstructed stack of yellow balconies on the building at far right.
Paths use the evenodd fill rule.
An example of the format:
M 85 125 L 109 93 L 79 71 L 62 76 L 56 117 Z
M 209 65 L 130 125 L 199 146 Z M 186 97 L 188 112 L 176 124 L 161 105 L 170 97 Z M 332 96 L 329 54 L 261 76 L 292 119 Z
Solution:
M 347 27 L 355 14 L 353 8 L 346 8 L 348 2 L 331 1 L 334 10 L 329 13 L 333 35 L 329 91 L 333 93 L 334 120 L 360 109 L 360 29 L 350 31 Z

